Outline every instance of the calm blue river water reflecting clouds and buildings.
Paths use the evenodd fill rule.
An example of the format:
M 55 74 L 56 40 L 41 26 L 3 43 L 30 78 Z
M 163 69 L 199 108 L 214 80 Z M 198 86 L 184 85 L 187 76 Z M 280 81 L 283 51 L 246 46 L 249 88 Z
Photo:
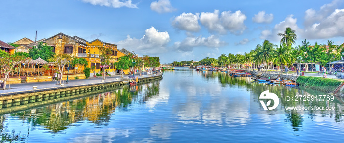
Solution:
M 0 109 L 2 141 L 23 142 L 337 142 L 344 141 L 343 99 L 322 113 L 251 114 L 264 90 L 282 95 L 310 89 L 251 83 L 187 68 L 160 81 L 124 86 L 43 106 Z M 300 103 L 282 103 L 287 104 Z M 9 111 L 11 112 L 5 112 Z

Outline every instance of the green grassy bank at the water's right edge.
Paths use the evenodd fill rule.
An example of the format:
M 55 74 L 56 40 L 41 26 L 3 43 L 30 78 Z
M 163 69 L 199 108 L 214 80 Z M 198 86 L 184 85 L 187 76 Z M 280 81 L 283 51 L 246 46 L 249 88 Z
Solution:
M 333 92 L 341 84 L 341 81 L 322 77 L 300 76 L 297 78 L 296 83 L 319 91 Z

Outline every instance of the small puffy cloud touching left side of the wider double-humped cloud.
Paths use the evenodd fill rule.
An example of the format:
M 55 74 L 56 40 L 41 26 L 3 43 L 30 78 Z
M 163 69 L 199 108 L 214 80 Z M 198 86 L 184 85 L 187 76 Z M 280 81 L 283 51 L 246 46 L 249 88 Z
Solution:
M 201 26 L 198 24 L 199 19 L 200 13 L 182 13 L 174 18 L 172 26 L 180 30 L 198 32 L 201 29 Z

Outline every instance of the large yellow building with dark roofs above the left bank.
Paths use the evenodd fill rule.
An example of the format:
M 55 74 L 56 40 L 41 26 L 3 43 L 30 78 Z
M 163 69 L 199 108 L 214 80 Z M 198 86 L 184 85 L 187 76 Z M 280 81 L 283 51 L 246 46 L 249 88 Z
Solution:
M 20 41 L 20 40 L 19 40 Z M 48 46 L 53 47 L 53 51 L 56 54 L 69 54 L 73 57 L 77 58 L 85 58 L 88 62 L 88 67 L 92 68 L 95 67 L 95 71 L 91 70 L 91 77 L 95 73 L 99 73 L 100 71 L 105 68 L 104 71 L 108 72 L 111 75 L 115 75 L 118 73 L 118 70 L 115 69 L 114 63 L 117 62 L 117 59 L 121 56 L 128 55 L 129 52 L 126 49 L 117 49 L 116 44 L 112 43 L 106 43 L 99 39 L 95 39 L 91 42 L 88 42 L 87 40 L 74 36 L 71 37 L 69 35 L 58 33 L 50 38 L 42 40 L 43 43 L 47 44 Z M 33 42 L 34 43 L 34 42 Z M 31 43 L 32 44 L 32 43 Z M 106 67 L 101 66 L 102 52 L 99 48 L 110 48 L 110 64 L 106 65 Z M 137 56 L 134 54 L 134 56 Z M 79 67 L 83 68 L 83 67 Z M 72 70 L 72 71 L 71 71 Z M 71 67 L 70 73 L 74 72 L 74 68 Z M 79 69 L 78 71 L 82 71 L 83 69 Z M 125 74 L 128 74 L 129 70 L 124 70 Z

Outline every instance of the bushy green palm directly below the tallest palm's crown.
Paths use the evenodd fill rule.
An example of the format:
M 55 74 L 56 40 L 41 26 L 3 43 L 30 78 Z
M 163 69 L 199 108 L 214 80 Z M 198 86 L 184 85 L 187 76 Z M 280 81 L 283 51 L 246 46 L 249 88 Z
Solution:
M 282 63 L 284 65 L 291 63 L 291 60 L 290 60 L 291 54 L 289 54 L 287 50 L 288 50 L 287 46 L 278 47 L 273 51 L 273 53 L 271 54 L 272 56 L 270 57 L 271 59 L 273 59 L 274 63 L 280 62 L 281 71 L 282 71 Z

